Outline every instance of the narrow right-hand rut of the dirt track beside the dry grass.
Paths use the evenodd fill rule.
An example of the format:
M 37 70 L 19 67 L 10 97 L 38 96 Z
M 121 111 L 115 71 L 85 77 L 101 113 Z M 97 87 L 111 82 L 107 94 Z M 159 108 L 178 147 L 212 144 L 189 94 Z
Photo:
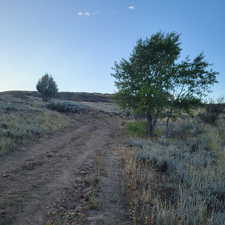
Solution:
M 121 141 L 122 142 L 122 141 Z M 113 145 L 112 151 L 102 152 L 102 166 L 103 172 L 100 176 L 101 191 L 98 196 L 98 201 L 102 208 L 97 213 L 94 212 L 93 219 L 96 223 L 104 225 L 128 225 L 129 215 L 125 207 L 125 196 L 123 194 L 123 187 L 121 180 L 122 167 L 121 156 L 118 153 L 118 143 Z

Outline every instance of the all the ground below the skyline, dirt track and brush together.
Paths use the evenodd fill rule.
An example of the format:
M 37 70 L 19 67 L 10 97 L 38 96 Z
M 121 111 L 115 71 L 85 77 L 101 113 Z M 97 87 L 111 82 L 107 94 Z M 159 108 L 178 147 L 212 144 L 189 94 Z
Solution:
M 148 137 L 110 95 L 63 96 L 0 94 L 0 225 L 224 225 L 223 104 Z

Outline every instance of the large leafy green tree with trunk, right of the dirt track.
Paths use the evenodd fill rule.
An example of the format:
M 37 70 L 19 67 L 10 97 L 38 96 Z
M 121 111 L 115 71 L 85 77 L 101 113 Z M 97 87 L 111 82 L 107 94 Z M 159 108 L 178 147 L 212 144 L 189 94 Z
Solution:
M 113 67 L 120 104 L 145 115 L 149 135 L 165 111 L 189 108 L 216 82 L 203 54 L 180 60 L 180 45 L 179 34 L 158 32 L 139 40 L 129 59 Z

